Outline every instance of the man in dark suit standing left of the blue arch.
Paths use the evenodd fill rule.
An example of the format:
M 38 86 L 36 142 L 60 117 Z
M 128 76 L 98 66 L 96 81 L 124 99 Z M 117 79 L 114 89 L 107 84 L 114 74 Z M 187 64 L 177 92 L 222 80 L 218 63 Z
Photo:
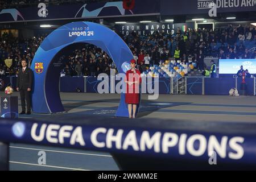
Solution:
M 22 112 L 19 114 L 26 114 L 27 102 L 27 114 L 31 114 L 31 88 L 32 88 L 33 72 L 27 67 L 27 61 L 22 60 L 22 68 L 19 69 L 16 89 L 20 93 L 20 100 L 22 104 Z

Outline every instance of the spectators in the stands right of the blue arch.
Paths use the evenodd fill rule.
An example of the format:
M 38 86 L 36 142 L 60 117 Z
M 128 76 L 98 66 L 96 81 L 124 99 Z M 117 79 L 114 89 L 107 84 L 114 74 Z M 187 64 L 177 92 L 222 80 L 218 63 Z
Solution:
M 124 36 L 123 39 L 129 45 L 139 65 L 141 61 L 147 62 L 148 56 L 151 57 L 151 65 L 159 65 L 161 61 L 172 60 L 176 50 L 179 50 L 179 60 L 196 61 L 201 70 L 204 69 L 205 57 L 255 58 L 255 52 L 249 52 L 250 48 L 256 47 L 255 28 L 241 25 L 234 28 L 230 24 L 228 27 L 216 28 L 214 31 L 188 28 L 186 32 L 182 32 L 178 28 L 174 35 L 162 34 L 158 31 L 146 36 L 133 33 Z

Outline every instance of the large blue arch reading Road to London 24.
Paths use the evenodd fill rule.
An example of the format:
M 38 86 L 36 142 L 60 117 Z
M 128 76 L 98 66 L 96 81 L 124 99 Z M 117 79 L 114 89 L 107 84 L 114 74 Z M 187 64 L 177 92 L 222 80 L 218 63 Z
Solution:
M 31 69 L 35 78 L 32 93 L 33 113 L 65 111 L 59 93 L 59 77 L 64 61 L 60 53 L 67 55 L 65 49 L 68 46 L 81 43 L 93 44 L 108 53 L 119 73 L 125 73 L 123 65 L 129 64 L 133 59 L 133 54 L 126 43 L 105 26 L 92 22 L 73 22 L 57 28 L 43 41 L 32 61 Z M 121 94 L 115 116 L 129 116 L 124 93 Z

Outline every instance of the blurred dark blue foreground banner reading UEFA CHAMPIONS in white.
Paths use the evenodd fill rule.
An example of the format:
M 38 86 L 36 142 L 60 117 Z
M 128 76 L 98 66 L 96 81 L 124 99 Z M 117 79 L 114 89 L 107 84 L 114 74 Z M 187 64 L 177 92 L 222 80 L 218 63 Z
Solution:
M 105 122 L 102 122 L 102 125 L 73 125 L 1 119 L 0 141 L 165 159 L 198 160 L 205 163 L 208 163 L 209 156 L 215 152 L 218 165 L 256 165 L 256 134 L 253 132 L 236 133 L 230 130 L 225 133 L 209 133 L 200 130 L 160 129 L 162 126 L 158 129 L 131 125 L 111 127 Z M 250 127 L 255 128 L 255 125 L 251 124 Z

